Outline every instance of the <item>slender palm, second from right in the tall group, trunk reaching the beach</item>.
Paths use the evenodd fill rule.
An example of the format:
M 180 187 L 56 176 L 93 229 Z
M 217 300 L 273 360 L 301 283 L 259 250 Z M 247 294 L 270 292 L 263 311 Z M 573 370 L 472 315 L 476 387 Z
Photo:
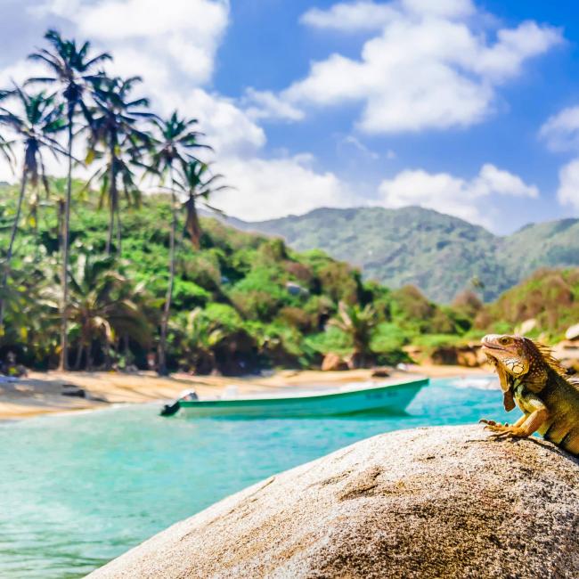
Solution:
M 180 118 L 175 112 L 167 120 L 153 119 L 153 125 L 157 135 L 153 137 L 151 143 L 151 163 L 149 170 L 159 175 L 164 181 L 168 175 L 169 187 L 171 190 L 171 232 L 169 238 L 169 281 L 167 284 L 167 296 L 161 318 L 161 329 L 159 339 L 159 373 L 167 373 L 167 329 L 169 314 L 171 312 L 171 300 L 173 298 L 173 284 L 175 281 L 175 233 L 177 227 L 176 214 L 176 178 L 175 168 L 185 167 L 195 157 L 192 151 L 205 148 L 208 145 L 199 143 L 202 134 L 192 127 L 197 125 L 197 119 Z

